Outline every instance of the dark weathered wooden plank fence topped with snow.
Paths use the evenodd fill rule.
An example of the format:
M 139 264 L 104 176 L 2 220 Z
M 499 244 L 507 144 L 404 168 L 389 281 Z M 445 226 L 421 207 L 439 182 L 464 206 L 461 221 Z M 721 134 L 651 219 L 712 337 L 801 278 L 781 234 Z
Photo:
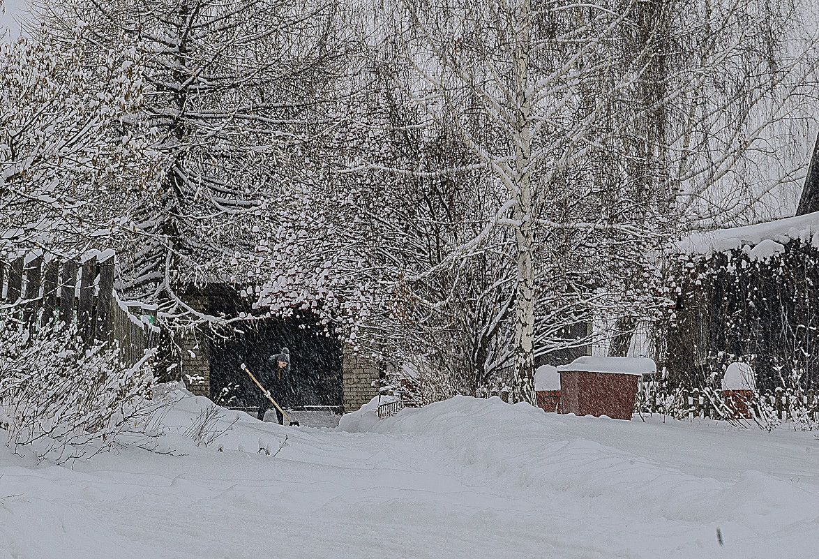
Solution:
M 19 313 L 29 328 L 52 320 L 76 325 L 87 345 L 117 342 L 126 365 L 133 365 L 156 346 L 156 308 L 121 302 L 114 292 L 114 266 L 113 251 L 76 260 L 29 253 L 0 261 L 0 309 Z

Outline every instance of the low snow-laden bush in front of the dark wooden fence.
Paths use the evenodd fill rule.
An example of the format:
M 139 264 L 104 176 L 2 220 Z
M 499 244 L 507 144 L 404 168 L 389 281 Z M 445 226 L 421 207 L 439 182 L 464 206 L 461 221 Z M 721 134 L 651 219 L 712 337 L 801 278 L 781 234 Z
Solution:
M 119 353 L 107 345 L 84 348 L 74 329 L 29 333 L 3 320 L 0 428 L 8 447 L 30 445 L 41 460 L 60 463 L 124 444 L 126 434 L 146 434 L 156 411 L 148 398 L 150 356 L 126 367 Z

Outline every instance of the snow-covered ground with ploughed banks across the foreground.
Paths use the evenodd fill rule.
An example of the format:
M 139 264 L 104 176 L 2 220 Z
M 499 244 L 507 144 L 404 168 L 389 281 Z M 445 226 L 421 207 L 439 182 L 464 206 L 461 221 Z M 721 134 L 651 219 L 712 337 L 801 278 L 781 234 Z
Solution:
M 183 398 L 166 422 L 185 428 L 205 403 Z M 812 433 L 557 416 L 497 398 L 346 417 L 339 429 L 238 416 L 207 448 L 170 434 L 170 454 L 129 448 L 73 469 L 0 446 L 0 557 L 750 559 L 819 549 Z

